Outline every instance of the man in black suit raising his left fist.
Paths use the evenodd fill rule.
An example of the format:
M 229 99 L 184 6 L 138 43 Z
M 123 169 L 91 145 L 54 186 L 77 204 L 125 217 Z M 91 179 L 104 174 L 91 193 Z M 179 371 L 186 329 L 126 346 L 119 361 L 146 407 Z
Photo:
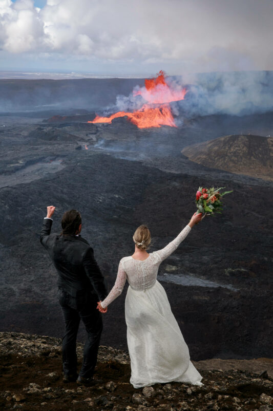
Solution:
M 47 208 L 40 242 L 49 252 L 58 273 L 58 297 L 64 314 L 66 333 L 62 340 L 64 382 L 76 381 L 90 386 L 97 362 L 102 319 L 97 301 L 107 296 L 104 278 L 94 258 L 93 249 L 79 233 L 81 216 L 77 210 L 66 211 L 61 219 L 62 232 L 51 234 L 55 207 Z M 104 312 L 106 312 L 104 310 Z M 76 339 L 82 320 L 88 333 L 82 367 L 77 375 Z

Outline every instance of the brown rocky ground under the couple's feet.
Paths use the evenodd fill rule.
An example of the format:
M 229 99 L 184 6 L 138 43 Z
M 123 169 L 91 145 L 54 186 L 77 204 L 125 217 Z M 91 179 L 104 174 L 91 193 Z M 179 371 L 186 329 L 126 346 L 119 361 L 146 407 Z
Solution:
M 156 384 L 134 389 L 127 352 L 101 346 L 93 387 L 62 382 L 60 340 L 0 333 L 0 407 L 36 411 L 222 411 L 273 409 L 273 362 L 195 362 L 203 386 Z M 82 345 L 77 347 L 79 364 Z M 219 368 L 219 361 L 221 367 Z

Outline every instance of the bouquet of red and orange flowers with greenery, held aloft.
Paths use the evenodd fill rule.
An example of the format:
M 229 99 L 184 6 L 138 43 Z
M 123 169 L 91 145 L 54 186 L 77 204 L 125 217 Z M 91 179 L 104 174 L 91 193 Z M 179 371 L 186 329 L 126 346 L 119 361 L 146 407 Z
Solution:
M 223 203 L 221 198 L 228 194 L 232 193 L 232 191 L 225 191 L 221 193 L 220 190 L 223 190 L 224 187 L 220 189 L 215 189 L 212 187 L 211 189 L 203 189 L 203 187 L 199 187 L 196 192 L 196 207 L 197 213 L 204 213 L 204 218 L 206 215 L 213 215 L 215 213 L 221 214 L 223 208 Z

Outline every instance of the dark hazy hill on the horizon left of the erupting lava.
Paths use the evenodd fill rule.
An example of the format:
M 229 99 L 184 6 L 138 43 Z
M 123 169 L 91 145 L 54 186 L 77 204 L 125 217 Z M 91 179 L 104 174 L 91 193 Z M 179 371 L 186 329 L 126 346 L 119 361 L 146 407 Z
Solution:
M 143 83 L 144 79 L 0 80 L 0 112 L 103 109 L 115 104 L 118 94 L 128 96 Z

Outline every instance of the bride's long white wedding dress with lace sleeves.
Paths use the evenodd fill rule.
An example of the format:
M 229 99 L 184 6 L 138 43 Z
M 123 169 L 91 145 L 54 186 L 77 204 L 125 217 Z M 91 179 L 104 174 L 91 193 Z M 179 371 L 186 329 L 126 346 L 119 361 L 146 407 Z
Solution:
M 127 341 L 131 359 L 130 382 L 135 388 L 178 381 L 202 385 L 201 375 L 190 361 L 188 347 L 171 311 L 164 288 L 157 281 L 160 263 L 172 254 L 191 231 L 186 226 L 162 250 L 144 261 L 120 260 L 114 287 L 101 305 L 107 307 L 121 294 L 126 280 Z

